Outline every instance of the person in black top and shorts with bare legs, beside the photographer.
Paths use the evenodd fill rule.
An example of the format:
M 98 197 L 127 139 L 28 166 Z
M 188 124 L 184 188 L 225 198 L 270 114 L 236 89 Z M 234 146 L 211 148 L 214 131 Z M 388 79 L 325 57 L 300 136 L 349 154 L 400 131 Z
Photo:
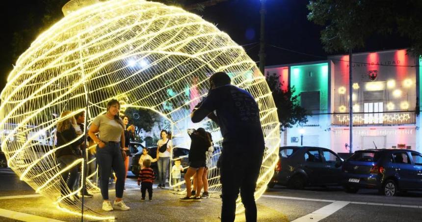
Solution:
M 189 150 L 189 168 L 185 173 L 186 183 L 186 196 L 181 198 L 181 201 L 201 201 L 201 189 L 202 189 L 202 174 L 206 167 L 206 151 L 211 146 L 210 136 L 207 134 L 204 128 L 198 128 L 197 130 L 188 129 L 187 134 L 192 140 L 190 143 Z M 196 192 L 193 198 L 191 196 L 191 184 L 190 178 L 196 173 Z

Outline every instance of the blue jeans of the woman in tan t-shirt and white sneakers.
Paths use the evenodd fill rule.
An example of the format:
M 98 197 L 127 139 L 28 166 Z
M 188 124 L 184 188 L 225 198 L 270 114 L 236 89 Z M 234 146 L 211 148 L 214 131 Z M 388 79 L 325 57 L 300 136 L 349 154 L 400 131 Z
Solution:
M 108 199 L 108 178 L 111 168 L 116 173 L 116 197 L 123 197 L 125 188 L 125 164 L 123 162 L 120 142 L 106 142 L 106 146 L 100 148 L 97 145 L 97 163 L 99 166 L 99 175 L 101 180 L 101 194 L 103 199 Z

